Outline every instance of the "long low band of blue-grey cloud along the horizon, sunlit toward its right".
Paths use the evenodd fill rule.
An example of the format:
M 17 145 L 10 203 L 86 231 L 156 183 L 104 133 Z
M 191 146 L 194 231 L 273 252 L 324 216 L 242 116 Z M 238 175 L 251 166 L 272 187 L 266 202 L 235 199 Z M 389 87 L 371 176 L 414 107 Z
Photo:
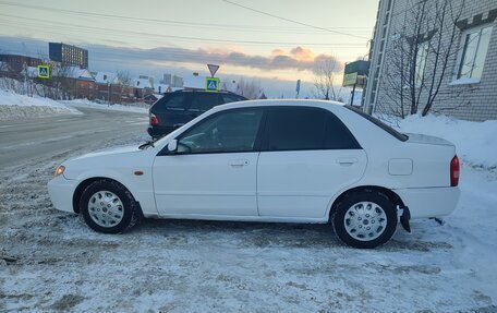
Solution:
M 21 44 L 22 43 L 22 46 Z M 89 51 L 89 63 L 109 62 L 123 65 L 161 65 L 169 63 L 207 64 L 244 67 L 263 71 L 295 70 L 316 72 L 320 62 L 342 62 L 331 55 L 317 55 L 304 47 L 294 47 L 286 50 L 274 49 L 268 56 L 248 55 L 241 47 L 184 49 L 173 47 L 159 47 L 153 49 L 138 49 L 130 47 L 114 47 L 107 45 L 81 45 Z M 0 37 L 0 49 L 11 52 L 39 55 L 48 52 L 47 41 L 33 38 Z M 48 55 L 46 52 L 46 55 Z M 337 67 L 340 68 L 340 67 Z M 97 70 L 97 69 L 95 69 Z

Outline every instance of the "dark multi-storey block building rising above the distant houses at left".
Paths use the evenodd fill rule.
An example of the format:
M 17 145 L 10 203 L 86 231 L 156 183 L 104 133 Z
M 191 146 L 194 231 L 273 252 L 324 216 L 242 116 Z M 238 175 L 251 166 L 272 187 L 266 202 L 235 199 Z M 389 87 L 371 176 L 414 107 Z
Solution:
M 50 60 L 62 65 L 88 69 L 88 50 L 62 43 L 49 43 L 48 56 Z

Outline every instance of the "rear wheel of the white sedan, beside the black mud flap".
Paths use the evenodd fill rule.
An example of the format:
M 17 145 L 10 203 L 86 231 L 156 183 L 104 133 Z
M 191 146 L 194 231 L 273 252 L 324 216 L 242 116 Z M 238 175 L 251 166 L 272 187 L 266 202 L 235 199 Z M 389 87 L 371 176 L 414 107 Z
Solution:
M 331 216 L 335 233 L 359 249 L 379 246 L 397 230 L 396 205 L 383 193 L 368 190 L 347 195 Z

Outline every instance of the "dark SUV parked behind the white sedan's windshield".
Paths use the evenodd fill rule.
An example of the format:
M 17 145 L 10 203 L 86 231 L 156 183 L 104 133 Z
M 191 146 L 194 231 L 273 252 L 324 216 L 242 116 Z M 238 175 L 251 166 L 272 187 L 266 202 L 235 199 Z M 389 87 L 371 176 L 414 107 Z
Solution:
M 215 106 L 243 100 L 247 100 L 247 98 L 230 92 L 178 91 L 167 93 L 149 109 L 148 134 L 154 139 L 163 136 Z

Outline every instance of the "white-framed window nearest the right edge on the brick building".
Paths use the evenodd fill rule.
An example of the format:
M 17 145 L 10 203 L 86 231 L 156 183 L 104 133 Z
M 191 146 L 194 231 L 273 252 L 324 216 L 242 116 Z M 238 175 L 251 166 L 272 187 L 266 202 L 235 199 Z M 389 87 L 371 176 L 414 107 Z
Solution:
M 492 25 L 468 29 L 462 34 L 456 80 L 480 82 L 490 43 Z

